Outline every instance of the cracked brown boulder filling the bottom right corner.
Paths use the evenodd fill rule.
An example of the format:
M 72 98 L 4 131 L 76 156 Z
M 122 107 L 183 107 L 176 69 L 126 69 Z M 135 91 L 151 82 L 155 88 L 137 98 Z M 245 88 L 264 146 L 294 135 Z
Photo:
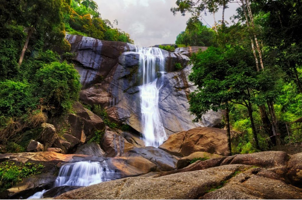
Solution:
M 280 177 L 263 168 L 238 171 L 220 189 L 202 196 L 202 199 L 301 199 L 302 190 L 279 180 Z M 220 187 L 221 187 L 220 186 Z M 216 189 L 216 190 L 215 190 Z

